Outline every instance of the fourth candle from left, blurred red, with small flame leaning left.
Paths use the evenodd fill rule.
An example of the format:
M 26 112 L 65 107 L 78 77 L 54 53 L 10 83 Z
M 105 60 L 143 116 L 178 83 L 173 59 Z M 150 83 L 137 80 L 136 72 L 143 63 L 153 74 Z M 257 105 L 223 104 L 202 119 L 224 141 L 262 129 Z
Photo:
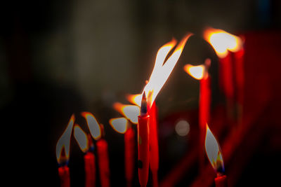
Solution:
M 124 134 L 125 178 L 127 186 L 132 186 L 135 160 L 135 132 L 126 118 L 112 118 L 110 119 L 110 125 L 115 131 Z

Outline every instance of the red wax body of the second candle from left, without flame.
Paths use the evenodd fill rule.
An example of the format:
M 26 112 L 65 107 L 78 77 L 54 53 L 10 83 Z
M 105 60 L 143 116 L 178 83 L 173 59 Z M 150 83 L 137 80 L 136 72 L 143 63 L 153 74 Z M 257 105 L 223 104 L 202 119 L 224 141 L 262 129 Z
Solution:
M 93 187 L 96 186 L 96 158 L 91 152 L 87 152 L 84 155 L 85 164 L 85 186 Z

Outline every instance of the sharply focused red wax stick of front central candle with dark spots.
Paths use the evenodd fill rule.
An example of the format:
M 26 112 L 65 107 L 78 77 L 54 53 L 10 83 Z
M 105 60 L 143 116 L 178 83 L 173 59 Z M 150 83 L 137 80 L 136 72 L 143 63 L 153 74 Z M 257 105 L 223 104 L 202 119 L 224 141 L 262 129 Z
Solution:
M 141 186 L 148 183 L 149 123 L 149 115 L 138 116 L 138 181 Z

